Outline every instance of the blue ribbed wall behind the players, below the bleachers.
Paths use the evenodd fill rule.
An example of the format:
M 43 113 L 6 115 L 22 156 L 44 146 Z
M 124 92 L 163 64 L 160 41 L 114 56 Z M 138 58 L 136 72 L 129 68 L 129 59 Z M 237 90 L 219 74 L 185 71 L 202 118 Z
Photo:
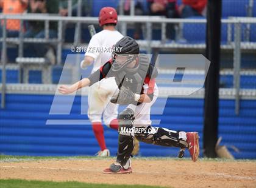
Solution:
M 5 155 L 71 156 L 94 155 L 99 147 L 91 126 L 46 126 L 46 119 L 87 119 L 80 115 L 81 98 L 74 100 L 71 115 L 49 115 L 52 95 L 6 96 L 6 109 L 0 110 L 0 153 Z M 158 98 L 152 112 L 159 110 Z M 85 104 L 87 101 L 85 100 Z M 256 101 L 242 100 L 240 115 L 235 115 L 235 101 L 222 99 L 219 103 L 219 136 L 222 144 L 236 146 L 240 153 L 232 151 L 236 158 L 256 158 Z M 85 106 L 85 110 L 87 106 Z M 202 99 L 169 98 L 163 115 L 152 115 L 161 119 L 160 126 L 174 130 L 197 131 L 201 136 L 203 128 Z M 107 147 L 114 156 L 118 134 L 105 129 Z M 141 144 L 141 156 L 176 156 L 179 149 Z M 186 156 L 189 156 L 186 153 Z M 202 156 L 202 150 L 201 150 Z

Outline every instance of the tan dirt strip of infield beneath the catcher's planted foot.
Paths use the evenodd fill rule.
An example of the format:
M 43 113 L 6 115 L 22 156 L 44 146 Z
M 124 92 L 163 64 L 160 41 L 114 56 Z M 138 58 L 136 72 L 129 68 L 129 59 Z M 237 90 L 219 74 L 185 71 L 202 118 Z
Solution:
M 1 162 L 0 178 L 82 181 L 107 184 L 146 184 L 166 187 L 256 187 L 256 163 L 133 159 L 128 175 L 105 175 L 113 159 L 41 159 Z

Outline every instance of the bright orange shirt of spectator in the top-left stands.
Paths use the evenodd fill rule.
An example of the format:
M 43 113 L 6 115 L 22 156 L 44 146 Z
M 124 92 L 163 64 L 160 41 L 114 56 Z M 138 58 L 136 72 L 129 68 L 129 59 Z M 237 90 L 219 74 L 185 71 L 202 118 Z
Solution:
M 28 0 L 0 0 L 4 15 L 21 14 L 27 8 Z M 20 30 L 20 20 L 7 19 L 7 30 Z

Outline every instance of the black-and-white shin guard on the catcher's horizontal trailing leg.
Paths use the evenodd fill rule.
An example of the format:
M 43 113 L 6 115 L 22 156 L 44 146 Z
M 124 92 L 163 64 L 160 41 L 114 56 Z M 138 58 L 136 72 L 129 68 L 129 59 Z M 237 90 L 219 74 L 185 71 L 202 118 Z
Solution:
M 161 127 L 148 127 L 147 135 L 135 135 L 135 137 L 144 143 L 155 144 L 159 146 L 172 146 L 185 148 L 188 147 L 186 142 L 187 137 L 185 132 L 176 132 Z

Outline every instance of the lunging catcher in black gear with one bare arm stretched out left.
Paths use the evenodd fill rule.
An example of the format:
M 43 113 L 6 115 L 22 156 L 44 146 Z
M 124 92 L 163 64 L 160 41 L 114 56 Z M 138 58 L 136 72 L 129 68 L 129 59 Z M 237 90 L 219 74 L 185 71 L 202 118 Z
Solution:
M 99 79 L 115 77 L 118 95 L 111 102 L 127 105 L 118 115 L 118 152 L 116 162 L 103 173 L 131 173 L 131 153 L 133 139 L 137 138 L 148 144 L 179 147 L 180 157 L 187 148 L 191 159 L 199 156 L 199 136 L 197 132 L 182 132 L 162 127 L 151 126 L 150 110 L 158 96 L 155 78 L 157 69 L 150 64 L 148 56 L 139 54 L 137 42 L 126 36 L 118 41 L 115 47 L 122 47 L 121 52 L 113 52 L 112 59 L 88 78 L 76 82 L 72 86 L 60 86 L 59 92 L 68 94 L 82 87 L 91 86 Z

